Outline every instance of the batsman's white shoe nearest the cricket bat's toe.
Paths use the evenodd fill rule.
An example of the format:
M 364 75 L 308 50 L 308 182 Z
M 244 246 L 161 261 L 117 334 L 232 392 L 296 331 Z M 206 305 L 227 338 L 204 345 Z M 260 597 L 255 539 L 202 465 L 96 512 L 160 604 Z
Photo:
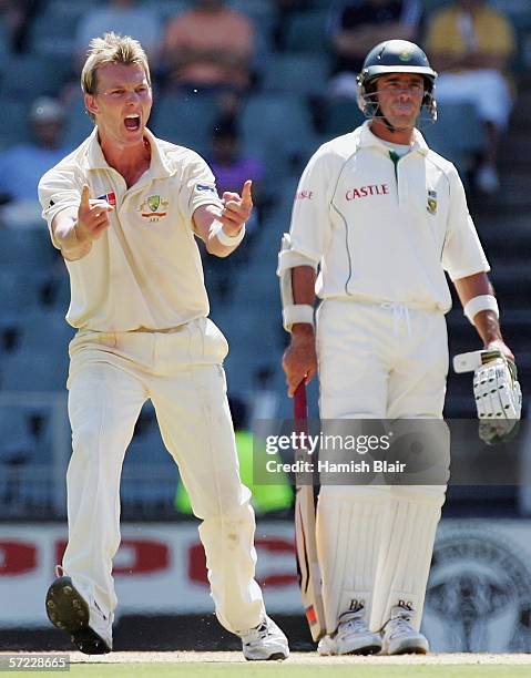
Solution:
M 380 634 L 372 633 L 365 620 L 365 607 L 343 613 L 334 634 L 319 640 L 319 655 L 376 655 L 381 650 Z

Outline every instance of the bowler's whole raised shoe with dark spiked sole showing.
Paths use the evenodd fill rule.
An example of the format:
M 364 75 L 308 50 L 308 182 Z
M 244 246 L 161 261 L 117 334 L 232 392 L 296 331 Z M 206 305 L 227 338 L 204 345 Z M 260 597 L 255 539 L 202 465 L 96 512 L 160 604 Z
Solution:
M 95 602 L 89 604 L 70 577 L 57 578 L 48 589 L 47 614 L 53 626 L 70 634 L 85 655 L 112 650 L 112 615 L 104 615 Z

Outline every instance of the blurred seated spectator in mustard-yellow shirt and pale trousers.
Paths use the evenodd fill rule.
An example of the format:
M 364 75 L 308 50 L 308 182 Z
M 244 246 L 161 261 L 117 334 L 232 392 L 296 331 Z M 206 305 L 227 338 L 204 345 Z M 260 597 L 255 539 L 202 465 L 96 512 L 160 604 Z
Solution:
M 455 0 L 428 24 L 426 50 L 439 71 L 439 104 L 470 102 L 487 130 L 476 182 L 484 193 L 499 188 L 497 151 L 512 106 L 507 78 L 515 52 L 509 20 L 484 0 Z

